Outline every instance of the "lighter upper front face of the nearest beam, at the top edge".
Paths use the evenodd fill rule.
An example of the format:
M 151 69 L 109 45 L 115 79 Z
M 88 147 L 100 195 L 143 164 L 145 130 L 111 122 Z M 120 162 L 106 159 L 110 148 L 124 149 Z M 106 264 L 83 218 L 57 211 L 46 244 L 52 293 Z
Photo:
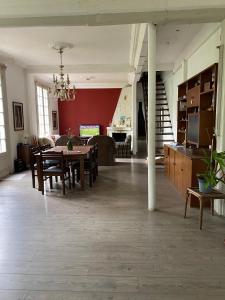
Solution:
M 225 8 L 224 0 L 0 0 L 0 16 L 86 16 Z

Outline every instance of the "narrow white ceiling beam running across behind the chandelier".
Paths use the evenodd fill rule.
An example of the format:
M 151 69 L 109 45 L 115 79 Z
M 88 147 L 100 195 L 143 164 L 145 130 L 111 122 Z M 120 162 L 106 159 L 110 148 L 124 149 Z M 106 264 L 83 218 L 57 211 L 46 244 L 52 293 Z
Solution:
M 27 66 L 27 73 L 58 73 L 58 66 Z M 101 64 L 87 64 L 87 65 L 65 65 L 66 73 L 82 74 L 82 73 L 129 73 L 133 72 L 134 67 L 129 64 L 117 64 L 117 65 L 101 65 Z

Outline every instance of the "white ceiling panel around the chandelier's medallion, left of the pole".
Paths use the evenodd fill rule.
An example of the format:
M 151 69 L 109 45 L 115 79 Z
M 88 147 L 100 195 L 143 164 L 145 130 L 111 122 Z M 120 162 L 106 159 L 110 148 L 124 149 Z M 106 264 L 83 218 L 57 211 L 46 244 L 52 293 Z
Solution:
M 55 65 L 59 55 L 48 45 L 63 41 L 74 45 L 63 55 L 65 65 L 128 64 L 130 25 L 0 28 L 0 50 L 29 65 Z

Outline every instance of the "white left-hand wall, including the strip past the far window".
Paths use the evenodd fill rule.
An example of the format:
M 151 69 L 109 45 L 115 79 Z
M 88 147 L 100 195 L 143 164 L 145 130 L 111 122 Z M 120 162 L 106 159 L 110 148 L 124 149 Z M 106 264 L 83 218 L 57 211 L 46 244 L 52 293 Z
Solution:
M 12 59 L 0 57 L 0 63 L 6 66 L 6 105 L 5 121 L 7 126 L 8 143 L 7 153 L 0 154 L 0 178 L 14 172 L 14 159 L 17 158 L 17 144 L 25 142 L 24 135 L 29 136 L 27 142 L 31 142 L 32 136 L 37 136 L 37 107 L 35 95 L 34 75 L 27 75 L 26 71 L 17 65 Z M 22 102 L 24 112 L 24 130 L 15 131 L 13 124 L 12 102 Z M 58 134 L 58 130 L 52 129 L 52 110 L 58 111 L 57 102 L 50 97 L 49 116 L 50 132 Z

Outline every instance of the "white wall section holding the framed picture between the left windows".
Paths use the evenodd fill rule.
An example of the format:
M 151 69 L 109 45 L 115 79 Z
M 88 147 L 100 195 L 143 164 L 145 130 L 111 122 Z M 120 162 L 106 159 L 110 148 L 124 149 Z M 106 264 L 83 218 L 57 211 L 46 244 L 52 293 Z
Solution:
M 5 120 L 8 125 L 8 155 L 1 160 L 0 177 L 14 171 L 14 159 L 17 157 L 17 143 L 23 142 L 23 135 L 29 134 L 28 105 L 26 94 L 25 70 L 18 66 L 12 59 L 0 58 L 0 62 L 6 66 L 6 102 Z M 24 130 L 15 131 L 13 125 L 13 106 L 12 102 L 23 103 Z M 1 155 L 2 156 L 2 155 Z

